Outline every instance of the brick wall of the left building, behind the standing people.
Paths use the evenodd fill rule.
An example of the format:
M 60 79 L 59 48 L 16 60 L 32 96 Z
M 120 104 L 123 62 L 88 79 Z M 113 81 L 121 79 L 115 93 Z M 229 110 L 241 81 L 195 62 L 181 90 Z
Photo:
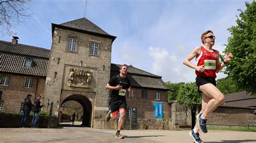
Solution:
M 44 77 L 33 77 L 5 73 L 1 73 L 0 76 L 9 76 L 9 86 L 1 86 L 3 87 L 3 112 L 19 112 L 21 108 L 21 103 L 24 102 L 24 98 L 26 98 L 26 95 L 28 94 L 32 95 L 32 103 L 35 100 L 35 96 L 40 95 L 43 97 L 45 84 Z M 26 78 L 33 79 L 32 88 L 24 87 Z

